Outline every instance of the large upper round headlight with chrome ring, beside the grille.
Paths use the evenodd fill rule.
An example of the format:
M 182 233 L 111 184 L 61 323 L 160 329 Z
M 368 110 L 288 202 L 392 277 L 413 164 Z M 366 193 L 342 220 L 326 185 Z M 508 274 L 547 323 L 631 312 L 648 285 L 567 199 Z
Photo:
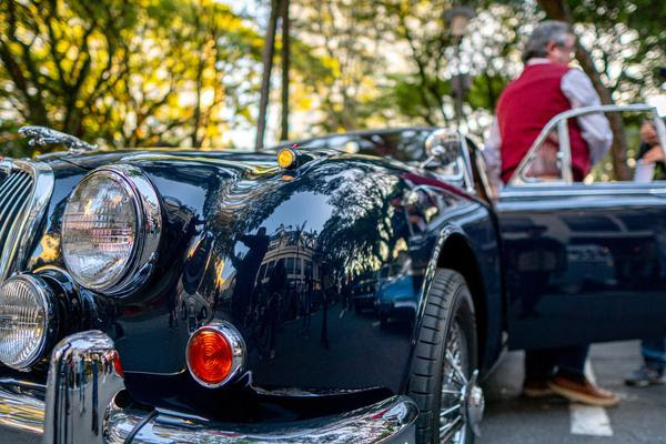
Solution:
M 115 193 L 112 195 L 112 198 L 122 200 L 124 196 L 127 196 L 130 202 L 125 202 L 124 204 L 129 205 L 131 203 L 131 213 L 134 216 L 133 221 L 128 220 L 128 226 L 122 228 L 124 231 L 121 231 L 123 236 L 132 241 L 131 250 L 127 256 L 122 258 L 122 261 L 120 261 L 120 266 L 117 269 L 117 271 L 113 273 L 107 273 L 111 274 L 111 278 L 107 280 L 103 280 L 102 278 L 104 275 L 103 268 L 98 272 L 99 279 L 93 280 L 87 278 L 83 273 L 85 270 L 83 270 L 83 265 L 81 264 L 84 264 L 87 259 L 90 260 L 92 258 L 88 258 L 80 251 L 77 251 L 77 249 L 72 248 L 73 245 L 68 245 L 68 242 L 74 243 L 74 241 L 71 239 L 74 235 L 82 236 L 80 233 L 72 234 L 72 231 L 74 231 L 72 225 L 75 225 L 77 222 L 79 222 L 78 229 L 80 231 L 84 231 L 84 229 L 81 229 L 81 226 L 83 226 L 85 223 L 90 224 L 91 228 L 88 229 L 90 232 L 89 238 L 83 238 L 84 241 L 88 241 L 89 246 L 94 245 L 94 240 L 92 240 L 92 236 L 95 235 L 95 233 L 102 233 L 100 234 L 101 236 L 105 235 L 108 239 L 113 239 L 117 231 L 120 230 L 115 225 L 104 226 L 104 218 L 101 218 L 101 222 L 95 220 L 94 215 L 91 216 L 92 219 L 90 220 L 83 220 L 84 216 L 81 215 L 82 213 L 77 213 L 77 210 L 81 211 L 81 208 L 83 208 L 83 210 L 88 210 L 89 208 L 94 206 L 93 204 L 99 203 L 83 201 L 72 202 L 72 200 L 75 200 L 74 196 L 78 196 L 79 194 L 90 191 L 94 192 L 94 190 L 85 189 L 85 186 L 90 185 L 89 182 L 91 181 L 99 183 L 109 181 L 107 183 L 108 189 Z M 111 193 L 108 193 L 108 195 L 109 194 Z M 110 212 L 109 214 L 112 214 L 113 211 L 109 209 L 103 210 Z M 124 210 L 129 211 L 129 209 Z M 103 215 L 109 219 L 107 213 Z M 77 220 L 77 218 L 79 218 L 79 220 Z M 71 222 L 70 219 L 74 219 L 74 222 Z M 95 224 L 102 225 L 98 226 Z M 92 171 L 90 174 L 83 178 L 68 201 L 62 223 L 62 252 L 64 264 L 72 278 L 80 285 L 90 290 L 102 292 L 104 294 L 120 295 L 141 285 L 150 276 L 158 258 L 161 233 L 162 211 L 160 200 L 154 186 L 143 174 L 141 169 L 131 164 L 105 165 Z M 112 243 L 107 243 L 105 245 L 110 245 L 110 251 L 113 251 L 112 249 L 115 246 Z M 89 252 L 87 254 L 94 253 Z M 112 264 L 109 266 L 111 265 Z

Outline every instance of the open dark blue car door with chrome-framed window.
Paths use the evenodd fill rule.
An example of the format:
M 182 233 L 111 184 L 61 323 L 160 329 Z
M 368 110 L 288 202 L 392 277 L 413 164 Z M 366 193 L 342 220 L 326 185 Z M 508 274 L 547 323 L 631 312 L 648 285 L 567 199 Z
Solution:
M 544 128 L 497 200 L 511 349 L 666 336 L 666 181 L 573 182 L 568 120 L 594 112 L 652 112 L 666 147 L 648 105 Z

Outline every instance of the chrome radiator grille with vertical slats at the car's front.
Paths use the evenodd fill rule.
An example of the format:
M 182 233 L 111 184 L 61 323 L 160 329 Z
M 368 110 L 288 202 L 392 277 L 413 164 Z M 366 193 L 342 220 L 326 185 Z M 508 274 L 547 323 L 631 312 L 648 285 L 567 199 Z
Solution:
M 53 191 L 53 172 L 41 162 L 0 161 L 0 282 L 26 265 L 38 224 Z

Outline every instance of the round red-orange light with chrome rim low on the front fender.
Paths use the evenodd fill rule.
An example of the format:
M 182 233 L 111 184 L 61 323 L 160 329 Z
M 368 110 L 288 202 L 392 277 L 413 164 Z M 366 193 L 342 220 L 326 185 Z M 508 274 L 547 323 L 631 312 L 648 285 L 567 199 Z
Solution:
M 245 344 L 229 323 L 213 323 L 196 330 L 186 349 L 192 377 L 206 387 L 219 387 L 234 379 L 245 363 Z

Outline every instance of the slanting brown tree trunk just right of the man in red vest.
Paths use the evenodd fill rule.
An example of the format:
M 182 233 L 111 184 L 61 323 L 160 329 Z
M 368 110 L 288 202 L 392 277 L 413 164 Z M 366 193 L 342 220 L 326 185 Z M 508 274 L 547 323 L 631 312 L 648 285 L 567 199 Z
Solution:
M 568 6 L 564 0 L 537 0 L 538 4 L 546 11 L 546 14 L 554 20 L 566 21 L 567 23 L 574 23 L 574 19 L 568 9 Z M 581 44 L 581 39 L 576 39 L 576 59 L 581 63 L 583 71 L 592 80 L 595 90 L 599 94 L 599 99 L 603 104 L 613 104 L 613 95 L 610 91 L 602 82 L 602 78 L 594 67 L 594 61 L 589 56 L 589 52 Z M 610 121 L 610 130 L 613 131 L 613 147 L 610 152 L 613 153 L 613 173 L 616 180 L 627 181 L 630 179 L 629 168 L 627 167 L 627 143 L 625 139 L 624 121 L 622 115 L 617 112 L 608 114 Z

